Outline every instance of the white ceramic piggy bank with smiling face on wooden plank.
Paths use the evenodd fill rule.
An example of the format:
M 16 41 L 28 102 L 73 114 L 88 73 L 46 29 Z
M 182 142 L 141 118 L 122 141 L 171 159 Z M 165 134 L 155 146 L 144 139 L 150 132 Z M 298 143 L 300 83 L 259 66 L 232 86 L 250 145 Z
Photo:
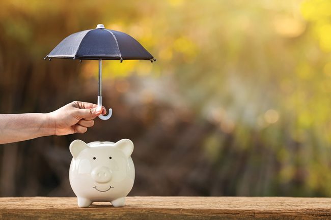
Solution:
M 69 180 L 79 207 L 88 207 L 93 202 L 124 206 L 134 182 L 132 151 L 133 143 L 129 139 L 88 144 L 74 140 L 70 144 L 73 158 Z

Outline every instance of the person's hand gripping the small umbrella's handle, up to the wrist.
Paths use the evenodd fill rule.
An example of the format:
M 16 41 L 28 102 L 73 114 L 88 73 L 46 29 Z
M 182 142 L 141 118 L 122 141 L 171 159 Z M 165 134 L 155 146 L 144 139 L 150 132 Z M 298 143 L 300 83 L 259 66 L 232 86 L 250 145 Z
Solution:
M 54 135 L 85 133 L 94 125 L 94 118 L 106 114 L 106 109 L 96 104 L 74 101 L 56 111 L 47 113 L 49 126 L 54 128 Z

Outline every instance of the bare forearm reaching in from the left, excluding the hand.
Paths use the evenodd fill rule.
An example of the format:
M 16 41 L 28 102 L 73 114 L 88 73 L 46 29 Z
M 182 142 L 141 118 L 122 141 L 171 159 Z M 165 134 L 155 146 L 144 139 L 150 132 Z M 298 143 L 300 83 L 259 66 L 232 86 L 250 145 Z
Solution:
M 54 134 L 49 114 L 0 114 L 0 144 Z

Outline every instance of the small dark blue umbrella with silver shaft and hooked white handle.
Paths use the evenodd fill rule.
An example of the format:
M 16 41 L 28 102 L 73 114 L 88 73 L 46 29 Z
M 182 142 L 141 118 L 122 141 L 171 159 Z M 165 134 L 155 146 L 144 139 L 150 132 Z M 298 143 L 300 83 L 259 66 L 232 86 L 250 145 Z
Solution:
M 66 37 L 44 59 L 95 59 L 99 60 L 98 106 L 102 106 L 102 71 L 101 60 L 145 59 L 151 62 L 156 59 L 134 38 L 116 30 L 104 28 L 98 24 L 95 29 L 83 30 Z M 107 116 L 99 115 L 102 120 L 112 116 L 109 108 Z

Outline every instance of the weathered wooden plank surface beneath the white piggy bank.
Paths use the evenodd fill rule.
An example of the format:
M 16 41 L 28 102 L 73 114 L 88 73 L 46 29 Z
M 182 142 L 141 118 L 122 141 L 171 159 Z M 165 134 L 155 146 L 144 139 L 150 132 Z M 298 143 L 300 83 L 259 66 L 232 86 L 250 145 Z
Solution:
M 71 197 L 0 198 L 1 219 L 331 219 L 330 198 L 127 197 L 78 208 Z

